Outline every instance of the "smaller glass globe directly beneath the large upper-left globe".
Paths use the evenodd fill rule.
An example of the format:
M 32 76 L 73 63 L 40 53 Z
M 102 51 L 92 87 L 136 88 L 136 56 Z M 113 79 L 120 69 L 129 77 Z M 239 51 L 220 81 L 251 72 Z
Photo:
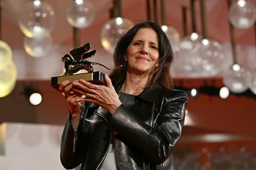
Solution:
M 51 35 L 45 35 L 41 37 L 25 37 L 24 49 L 32 57 L 43 57 L 52 48 Z

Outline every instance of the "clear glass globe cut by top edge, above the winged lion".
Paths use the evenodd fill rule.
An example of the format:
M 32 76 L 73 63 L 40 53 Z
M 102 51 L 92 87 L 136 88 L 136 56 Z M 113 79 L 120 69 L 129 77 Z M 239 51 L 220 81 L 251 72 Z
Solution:
M 94 21 L 95 10 L 89 0 L 71 0 L 66 19 L 75 28 L 86 28 Z

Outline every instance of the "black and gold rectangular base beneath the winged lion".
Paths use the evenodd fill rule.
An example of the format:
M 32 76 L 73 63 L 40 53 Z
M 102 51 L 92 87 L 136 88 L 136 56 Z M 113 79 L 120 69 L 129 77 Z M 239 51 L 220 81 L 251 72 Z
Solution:
M 95 85 L 106 85 L 106 81 L 104 78 L 104 74 L 100 71 L 95 71 L 92 73 L 82 73 L 82 74 L 73 74 L 59 77 L 51 78 L 51 87 L 59 91 L 59 85 L 68 80 L 69 82 L 73 82 L 75 80 L 84 79 L 85 81 L 89 81 Z

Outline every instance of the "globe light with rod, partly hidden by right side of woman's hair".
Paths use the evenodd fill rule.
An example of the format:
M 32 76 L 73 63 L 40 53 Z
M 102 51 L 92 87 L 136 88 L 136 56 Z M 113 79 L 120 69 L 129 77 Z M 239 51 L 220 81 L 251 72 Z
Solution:
M 176 30 L 176 28 L 166 24 L 165 15 L 166 15 L 165 14 L 165 0 L 161 0 L 161 18 L 162 18 L 161 28 L 167 35 L 167 37 L 172 45 L 173 52 L 175 53 L 176 48 L 179 45 L 180 35 L 179 35 L 179 32 Z

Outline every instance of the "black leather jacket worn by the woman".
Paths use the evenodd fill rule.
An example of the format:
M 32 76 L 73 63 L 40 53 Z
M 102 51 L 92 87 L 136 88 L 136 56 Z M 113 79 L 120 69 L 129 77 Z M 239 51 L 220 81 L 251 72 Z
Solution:
M 118 96 L 122 104 L 112 116 L 94 103 L 84 103 L 75 152 L 69 115 L 62 134 L 62 165 L 73 169 L 82 163 L 81 170 L 97 170 L 115 134 L 118 170 L 174 170 L 171 153 L 183 129 L 187 94 L 157 87 L 138 96 Z

